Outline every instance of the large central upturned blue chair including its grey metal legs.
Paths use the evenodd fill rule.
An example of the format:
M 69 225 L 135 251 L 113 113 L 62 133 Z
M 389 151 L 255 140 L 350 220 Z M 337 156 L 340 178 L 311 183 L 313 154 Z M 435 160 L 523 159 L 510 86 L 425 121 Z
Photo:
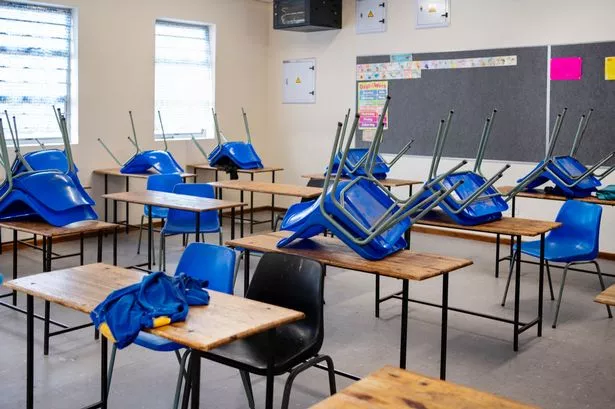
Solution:
M 342 124 L 338 123 L 323 194 L 316 200 L 297 203 L 288 209 L 281 229 L 290 230 L 293 234 L 282 239 L 278 243 L 279 247 L 329 230 L 362 257 L 368 260 L 380 260 L 406 248 L 404 235 L 411 224 L 426 215 L 452 192 L 451 189 L 441 189 L 428 194 L 425 198 L 427 189 L 430 189 L 432 184 L 440 182 L 454 169 L 434 180 L 432 184 L 426 184 L 420 192 L 404 200 L 398 199 L 373 176 L 388 103 L 389 100 L 385 104 L 374 141 L 362 165 L 365 176 L 357 176 L 351 181 L 340 181 L 341 172 L 337 172 L 332 179 L 333 163 L 339 152 L 342 130 Z M 358 116 L 355 117 L 342 151 L 340 166 L 347 163 L 358 119 Z

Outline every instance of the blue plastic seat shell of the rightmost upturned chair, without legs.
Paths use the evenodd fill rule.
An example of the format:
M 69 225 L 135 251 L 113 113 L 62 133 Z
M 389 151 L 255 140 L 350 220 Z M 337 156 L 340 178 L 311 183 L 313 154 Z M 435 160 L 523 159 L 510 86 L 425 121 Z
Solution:
M 597 188 L 601 185 L 600 181 L 593 175 L 587 175 L 583 181 L 581 181 L 576 186 L 570 188 L 566 185 L 562 184 L 555 176 L 557 175 L 561 180 L 568 184 L 572 184 L 575 180 L 572 177 L 578 177 L 582 175 L 583 172 L 587 171 L 587 168 L 583 166 L 578 160 L 571 156 L 556 156 L 553 158 L 553 161 L 562 169 L 562 172 L 559 168 L 556 168 L 552 163 L 547 165 L 547 169 L 545 169 L 542 174 L 530 182 L 526 189 L 532 190 L 536 189 L 549 181 L 555 184 L 556 189 L 558 189 L 558 193 L 566 197 L 587 197 L 590 196 L 593 192 L 597 190 Z M 544 164 L 544 161 L 541 161 L 532 172 L 541 167 Z M 528 175 L 529 176 L 529 175 Z M 523 177 L 519 179 L 517 182 L 523 182 L 527 179 Z

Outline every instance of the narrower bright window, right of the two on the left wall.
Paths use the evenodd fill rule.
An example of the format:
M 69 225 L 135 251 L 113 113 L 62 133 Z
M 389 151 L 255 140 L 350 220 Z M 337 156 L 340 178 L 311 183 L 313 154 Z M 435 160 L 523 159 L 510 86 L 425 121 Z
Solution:
M 162 139 L 158 111 L 169 139 L 213 138 L 211 27 L 156 21 L 155 137 Z

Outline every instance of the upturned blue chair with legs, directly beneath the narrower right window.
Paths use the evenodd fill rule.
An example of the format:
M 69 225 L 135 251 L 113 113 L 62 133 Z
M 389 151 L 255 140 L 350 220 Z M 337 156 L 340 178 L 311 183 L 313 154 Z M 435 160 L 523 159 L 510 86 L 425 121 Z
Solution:
M 146 173 L 150 170 L 154 169 L 158 173 L 161 174 L 169 174 L 169 173 L 182 173 L 184 169 L 177 163 L 173 155 L 168 151 L 167 138 L 164 133 L 164 128 L 162 127 L 162 117 L 160 116 L 160 111 L 158 112 L 158 118 L 160 119 L 160 126 L 162 128 L 162 139 L 164 141 L 164 150 L 147 150 L 142 151 L 139 147 L 139 142 L 137 140 L 137 132 L 135 131 L 135 123 L 132 117 L 132 111 L 128 111 L 128 115 L 130 116 L 130 124 L 132 126 L 132 138 L 129 136 L 128 140 L 137 150 L 135 154 L 126 161 L 126 163 L 122 164 L 116 157 L 113 155 L 111 150 L 105 145 L 102 139 L 98 138 L 98 142 L 105 148 L 105 150 L 111 155 L 113 160 L 121 166 L 120 172 L 125 174 L 131 173 Z

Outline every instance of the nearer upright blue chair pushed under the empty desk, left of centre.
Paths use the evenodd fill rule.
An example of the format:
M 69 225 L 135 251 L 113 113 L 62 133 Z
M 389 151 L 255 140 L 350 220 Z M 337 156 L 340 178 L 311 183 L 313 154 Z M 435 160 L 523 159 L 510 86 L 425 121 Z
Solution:
M 178 183 L 173 189 L 173 193 L 188 196 L 197 196 L 214 199 L 216 194 L 213 186 L 207 183 Z M 222 245 L 222 229 L 218 219 L 218 212 L 211 210 L 202 212 L 200 216 L 200 231 L 199 233 L 218 233 L 218 244 Z M 187 210 L 170 209 L 164 227 L 160 231 L 160 269 L 165 270 L 166 267 L 166 236 L 175 234 L 190 235 L 195 233 L 196 217 L 194 212 Z

